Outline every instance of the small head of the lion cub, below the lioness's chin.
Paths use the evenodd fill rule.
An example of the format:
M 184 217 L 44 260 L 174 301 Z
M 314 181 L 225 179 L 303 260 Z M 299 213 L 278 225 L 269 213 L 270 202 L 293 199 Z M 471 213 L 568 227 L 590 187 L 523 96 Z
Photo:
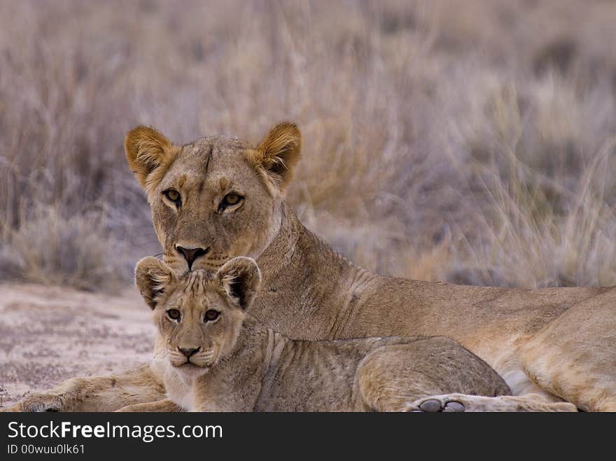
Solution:
M 232 350 L 260 283 L 254 260 L 236 257 L 212 274 L 176 276 L 155 257 L 137 263 L 135 283 L 154 311 L 158 333 L 173 367 L 207 371 Z

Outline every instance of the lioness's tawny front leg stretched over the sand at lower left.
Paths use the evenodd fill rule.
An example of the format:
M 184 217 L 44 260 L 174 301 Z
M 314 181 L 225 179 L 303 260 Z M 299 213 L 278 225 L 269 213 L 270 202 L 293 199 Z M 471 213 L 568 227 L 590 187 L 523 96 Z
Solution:
M 165 399 L 165 388 L 148 365 L 111 376 L 71 378 L 41 394 L 27 395 L 1 411 L 116 411 Z

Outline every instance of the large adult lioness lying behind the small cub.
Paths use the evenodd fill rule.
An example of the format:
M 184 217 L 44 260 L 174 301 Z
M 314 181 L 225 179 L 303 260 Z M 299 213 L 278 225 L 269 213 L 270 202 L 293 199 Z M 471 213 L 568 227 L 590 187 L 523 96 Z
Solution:
M 291 123 L 276 125 L 257 146 L 223 136 L 177 146 L 155 129 L 132 129 L 126 155 L 148 194 L 165 262 L 179 272 L 216 270 L 234 256 L 250 256 L 262 273 L 251 315 L 286 336 L 448 336 L 503 376 L 520 404 L 533 404 L 536 397 L 528 395 L 538 394 L 548 404 L 538 410 L 565 400 L 585 411 L 616 411 L 614 288 L 529 291 L 372 274 L 309 232 L 286 204 L 300 148 Z M 155 356 L 163 351 L 157 341 Z M 144 368 L 113 380 L 127 383 L 130 396 L 109 381 L 90 380 L 88 404 L 114 410 L 119 400 L 144 402 L 158 394 L 151 383 L 160 376 Z M 80 398 L 83 387 L 66 382 L 51 397 L 31 398 L 37 409 L 91 408 Z M 498 409 L 489 397 L 433 400 L 467 410 L 493 402 Z

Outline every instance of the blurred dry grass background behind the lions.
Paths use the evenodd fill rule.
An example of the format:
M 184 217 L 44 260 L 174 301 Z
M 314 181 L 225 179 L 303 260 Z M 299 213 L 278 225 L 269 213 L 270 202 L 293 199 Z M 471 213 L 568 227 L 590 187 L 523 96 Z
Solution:
M 294 120 L 302 221 L 381 274 L 616 284 L 616 2 L 0 0 L 0 280 L 158 253 L 123 153 Z

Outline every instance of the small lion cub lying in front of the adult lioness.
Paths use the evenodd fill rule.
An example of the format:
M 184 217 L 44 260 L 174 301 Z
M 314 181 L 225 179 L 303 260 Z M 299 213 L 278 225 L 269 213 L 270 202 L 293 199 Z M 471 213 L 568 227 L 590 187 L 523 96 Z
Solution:
M 295 341 L 268 329 L 246 313 L 260 284 L 248 257 L 181 277 L 146 257 L 135 278 L 167 348 L 154 367 L 171 402 L 124 411 L 172 402 L 188 411 L 409 411 L 426 395 L 509 394 L 489 365 L 444 337 Z

